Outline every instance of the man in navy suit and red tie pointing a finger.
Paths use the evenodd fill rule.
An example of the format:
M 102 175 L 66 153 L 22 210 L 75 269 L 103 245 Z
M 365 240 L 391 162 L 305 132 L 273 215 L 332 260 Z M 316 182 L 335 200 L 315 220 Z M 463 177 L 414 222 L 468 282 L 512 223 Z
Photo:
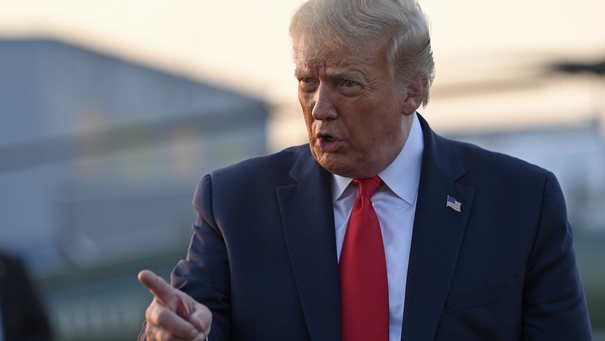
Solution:
M 140 338 L 590 340 L 554 175 L 417 114 L 434 69 L 419 6 L 310 0 L 290 36 L 309 144 L 201 180 L 173 287 L 139 274 Z M 358 225 L 378 234 L 356 244 Z

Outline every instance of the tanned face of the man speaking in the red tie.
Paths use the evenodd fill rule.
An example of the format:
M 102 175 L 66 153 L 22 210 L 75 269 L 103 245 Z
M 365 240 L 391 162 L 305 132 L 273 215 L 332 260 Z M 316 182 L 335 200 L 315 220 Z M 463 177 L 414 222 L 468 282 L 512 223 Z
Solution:
M 392 79 L 385 46 L 375 45 L 311 59 L 301 43 L 295 57 L 313 157 L 344 177 L 371 177 L 389 166 L 419 105 Z

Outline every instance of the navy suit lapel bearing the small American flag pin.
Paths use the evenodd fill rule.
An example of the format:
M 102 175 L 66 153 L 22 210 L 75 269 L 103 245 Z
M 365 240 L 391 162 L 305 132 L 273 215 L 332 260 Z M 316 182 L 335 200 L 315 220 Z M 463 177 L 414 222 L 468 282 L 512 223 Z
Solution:
M 450 144 L 419 118 L 425 151 L 407 270 L 402 340 L 435 338 L 475 193 L 456 183 L 464 168 Z M 462 212 L 446 207 L 448 195 L 462 203 Z

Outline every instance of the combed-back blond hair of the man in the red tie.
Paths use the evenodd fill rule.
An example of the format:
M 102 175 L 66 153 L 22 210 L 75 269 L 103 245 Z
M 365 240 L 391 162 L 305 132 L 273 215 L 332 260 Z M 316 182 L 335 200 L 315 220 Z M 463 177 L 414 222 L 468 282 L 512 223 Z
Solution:
M 428 20 L 414 0 L 308 0 L 290 22 L 292 53 L 305 42 L 310 58 L 331 51 L 356 52 L 360 42 L 389 42 L 389 69 L 394 80 L 407 86 L 421 76 L 428 90 L 435 78 Z

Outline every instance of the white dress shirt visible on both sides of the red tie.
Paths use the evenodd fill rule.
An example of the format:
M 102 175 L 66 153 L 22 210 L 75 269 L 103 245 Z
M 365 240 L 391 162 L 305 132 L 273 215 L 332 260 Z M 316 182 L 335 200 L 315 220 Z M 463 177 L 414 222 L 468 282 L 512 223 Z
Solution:
M 422 128 L 417 114 L 413 115 L 412 129 L 405 146 L 393 163 L 378 173 L 385 186 L 378 189 L 371 198 L 380 222 L 387 259 L 390 341 L 401 340 L 407 263 L 410 260 L 412 227 L 424 149 Z M 349 186 L 352 180 L 339 175 L 333 175 L 332 178 L 336 250 L 339 261 L 344 232 L 347 230 L 349 216 L 358 193 L 357 186 Z

